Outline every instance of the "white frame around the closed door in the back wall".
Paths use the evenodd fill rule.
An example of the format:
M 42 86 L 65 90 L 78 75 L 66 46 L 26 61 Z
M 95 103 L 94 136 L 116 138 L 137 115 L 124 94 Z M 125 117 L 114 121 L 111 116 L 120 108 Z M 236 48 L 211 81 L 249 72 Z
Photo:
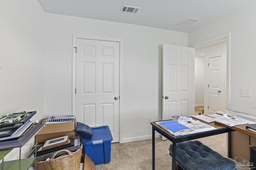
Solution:
M 119 143 L 122 143 L 122 94 L 123 94 L 123 40 L 85 35 L 72 35 L 72 115 L 76 116 L 76 39 L 91 39 L 99 41 L 119 42 Z

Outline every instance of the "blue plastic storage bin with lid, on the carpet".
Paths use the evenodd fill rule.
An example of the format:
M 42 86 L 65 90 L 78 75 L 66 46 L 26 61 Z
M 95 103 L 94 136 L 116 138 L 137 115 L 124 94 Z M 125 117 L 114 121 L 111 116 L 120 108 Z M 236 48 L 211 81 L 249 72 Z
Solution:
M 82 138 L 84 153 L 95 165 L 106 164 L 110 162 L 112 140 L 108 126 L 92 127 L 92 139 Z

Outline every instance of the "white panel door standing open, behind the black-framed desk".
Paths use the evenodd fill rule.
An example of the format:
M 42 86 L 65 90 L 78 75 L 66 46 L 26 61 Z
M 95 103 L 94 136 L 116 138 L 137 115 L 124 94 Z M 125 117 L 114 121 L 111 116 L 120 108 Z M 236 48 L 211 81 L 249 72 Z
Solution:
M 162 120 L 171 119 L 172 115 L 191 116 L 194 113 L 192 48 L 164 44 L 162 63 Z

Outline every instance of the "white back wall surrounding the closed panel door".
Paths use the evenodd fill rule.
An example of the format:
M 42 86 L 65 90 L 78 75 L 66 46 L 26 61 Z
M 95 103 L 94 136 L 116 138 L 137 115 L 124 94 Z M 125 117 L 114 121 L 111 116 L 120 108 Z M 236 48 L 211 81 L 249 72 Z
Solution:
M 123 42 L 122 142 L 148 139 L 160 120 L 162 44 L 187 46 L 187 33 L 46 14 L 45 114 L 72 114 L 72 35 Z

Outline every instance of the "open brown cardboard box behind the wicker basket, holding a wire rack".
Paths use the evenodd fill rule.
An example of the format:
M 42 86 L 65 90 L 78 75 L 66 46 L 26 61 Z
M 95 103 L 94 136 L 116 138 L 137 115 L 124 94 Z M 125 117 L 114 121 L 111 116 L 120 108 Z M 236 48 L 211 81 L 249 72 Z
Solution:
M 39 123 L 42 123 L 41 119 Z M 36 135 L 36 143 L 43 143 L 47 140 L 68 135 L 69 138 L 75 137 L 76 119 L 72 122 L 45 124 Z

